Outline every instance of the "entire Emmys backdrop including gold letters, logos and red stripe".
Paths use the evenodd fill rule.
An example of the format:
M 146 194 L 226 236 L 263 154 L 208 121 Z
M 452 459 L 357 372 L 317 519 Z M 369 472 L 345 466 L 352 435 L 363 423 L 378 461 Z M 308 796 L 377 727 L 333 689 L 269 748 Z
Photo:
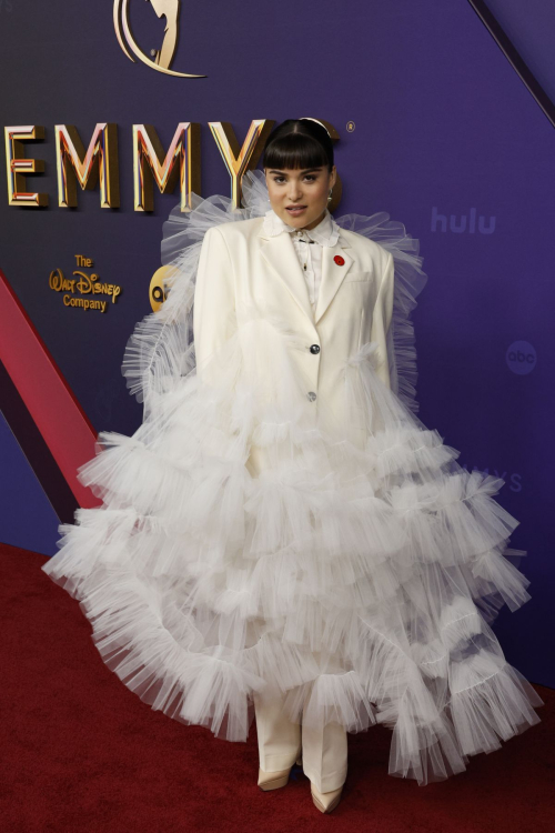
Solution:
M 320 119 L 334 214 L 421 241 L 418 415 L 505 481 L 533 600 L 496 631 L 553 684 L 554 32 L 539 0 L 0 0 L 0 541 L 54 553 L 98 433 L 141 423 L 121 363 L 170 211 Z

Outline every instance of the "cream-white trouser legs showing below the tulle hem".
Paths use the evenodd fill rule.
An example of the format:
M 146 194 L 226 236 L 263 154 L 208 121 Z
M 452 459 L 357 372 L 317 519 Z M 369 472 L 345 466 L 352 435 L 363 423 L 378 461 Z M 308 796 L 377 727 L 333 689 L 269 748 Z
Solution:
M 292 723 L 282 711 L 283 697 L 253 693 L 260 769 L 278 772 L 292 766 L 303 753 L 304 774 L 321 793 L 339 790 L 347 773 L 347 735 L 339 723 L 322 730 Z

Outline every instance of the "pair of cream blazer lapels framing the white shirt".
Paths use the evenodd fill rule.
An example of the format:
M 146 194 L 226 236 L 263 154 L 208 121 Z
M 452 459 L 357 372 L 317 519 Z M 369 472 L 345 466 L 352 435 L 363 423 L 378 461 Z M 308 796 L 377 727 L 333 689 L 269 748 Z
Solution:
M 312 324 L 317 323 L 354 262 L 353 257 L 349 253 L 350 247 L 341 232 L 335 245 L 322 247 L 322 282 L 320 284 L 315 312 L 312 310 L 309 288 L 301 264 L 299 263 L 291 234 L 283 232 L 274 237 L 265 237 L 263 225 L 261 224 L 259 238 L 262 255 L 272 272 L 285 283 L 300 309 L 310 319 L 310 322 Z M 344 260 L 342 265 L 334 261 L 334 257 L 339 253 L 341 253 Z

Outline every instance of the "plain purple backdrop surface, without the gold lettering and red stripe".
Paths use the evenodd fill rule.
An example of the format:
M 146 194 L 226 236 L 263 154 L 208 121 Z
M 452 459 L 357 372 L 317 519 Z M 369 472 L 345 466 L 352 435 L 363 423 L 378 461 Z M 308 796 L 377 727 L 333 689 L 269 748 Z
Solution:
M 553 37 L 545 36 L 546 27 L 553 36 L 555 6 L 527 3 L 524 29 L 518 7 L 491 3 L 555 91 Z M 159 46 L 164 21 L 153 23 L 144 2 L 131 11 L 143 48 Z M 132 124 L 154 124 L 168 147 L 179 121 L 200 122 L 203 195 L 230 193 L 209 121 L 232 122 L 240 143 L 252 119 L 312 116 L 335 126 L 336 215 L 385 210 L 421 240 L 430 281 L 414 315 L 420 416 L 461 450 L 461 464 L 505 480 L 498 500 L 521 520 L 512 545 L 528 552 L 521 569 L 533 599 L 513 615 L 505 610 L 496 632 L 511 662 L 552 684 L 539 638 L 553 632 L 545 622 L 554 570 L 555 137 L 471 4 L 188 3 L 173 69 L 208 76 L 198 80 L 129 61 L 109 0 L 0 0 L 0 23 L 2 122 L 46 127 L 46 140 L 27 145 L 46 172 L 28 183 L 50 194 L 49 208 L 9 208 L 0 167 L 0 267 L 98 431 L 130 434 L 141 421 L 120 364 L 135 321 L 150 311 L 162 222 L 178 201 L 176 192 L 157 191 L 153 213 L 133 211 Z M 101 121 L 119 126 L 121 208 L 101 210 L 98 190 L 79 191 L 77 209 L 58 208 L 53 126 L 74 124 L 87 145 Z M 69 272 L 78 252 L 94 258 L 102 280 L 123 287 L 110 314 L 65 309 L 49 289 L 50 270 Z M 27 474 L 16 471 L 24 460 L 17 462 L 6 430 L 0 441 L 7 491 Z M 36 498 L 24 488 L 12 498 L 1 541 L 28 543 Z M 53 553 L 56 524 L 46 521 L 43 530 L 36 549 Z

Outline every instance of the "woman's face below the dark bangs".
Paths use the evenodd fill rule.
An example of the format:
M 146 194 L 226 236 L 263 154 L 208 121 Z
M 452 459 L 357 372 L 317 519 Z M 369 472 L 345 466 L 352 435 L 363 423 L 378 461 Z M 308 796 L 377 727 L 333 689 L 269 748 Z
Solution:
M 313 229 L 327 208 L 330 189 L 335 184 L 336 169 L 264 168 L 268 193 L 273 210 L 287 225 Z M 292 210 L 295 207 L 297 210 Z

